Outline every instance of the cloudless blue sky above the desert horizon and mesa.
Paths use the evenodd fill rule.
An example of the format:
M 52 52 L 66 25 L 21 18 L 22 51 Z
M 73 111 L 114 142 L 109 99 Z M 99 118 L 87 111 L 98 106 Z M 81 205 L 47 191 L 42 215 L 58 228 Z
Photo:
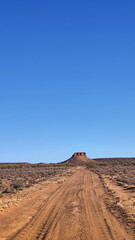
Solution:
M 0 161 L 135 157 L 135 1 L 0 3 Z

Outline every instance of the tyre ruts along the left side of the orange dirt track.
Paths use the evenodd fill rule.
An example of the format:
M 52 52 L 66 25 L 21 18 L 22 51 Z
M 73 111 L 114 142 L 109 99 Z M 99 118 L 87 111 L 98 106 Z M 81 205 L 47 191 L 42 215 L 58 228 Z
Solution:
M 49 232 L 51 227 L 51 221 L 55 219 L 56 214 L 62 207 L 65 198 L 68 197 L 70 192 L 70 186 L 62 186 L 60 189 L 54 193 L 48 202 L 45 202 L 43 206 L 38 210 L 37 214 L 32 218 L 32 220 L 13 237 L 9 238 L 11 240 L 33 240 L 42 239 L 41 232 Z M 66 195 L 65 195 L 66 193 Z M 63 199 L 63 196 L 65 198 Z M 62 200 L 63 199 L 63 200 Z M 52 219 L 52 220 L 50 220 Z M 49 222 L 50 221 L 50 222 Z M 45 234 L 45 233 L 44 233 Z

